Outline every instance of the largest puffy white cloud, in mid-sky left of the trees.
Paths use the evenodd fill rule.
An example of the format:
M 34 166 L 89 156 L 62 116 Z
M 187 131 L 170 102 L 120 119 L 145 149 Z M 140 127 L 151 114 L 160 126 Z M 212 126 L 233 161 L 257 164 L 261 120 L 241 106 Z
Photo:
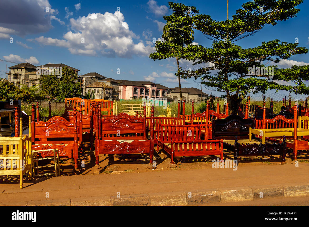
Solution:
M 72 31 L 64 34 L 64 39 L 40 36 L 34 40 L 45 45 L 68 48 L 72 54 L 77 55 L 101 54 L 130 58 L 133 55 L 148 56 L 154 51 L 154 47 L 145 45 L 142 41 L 133 43 L 133 39 L 139 39 L 139 36 L 129 30 L 124 15 L 119 11 L 114 14 L 92 13 L 78 19 L 71 18 L 70 25 Z

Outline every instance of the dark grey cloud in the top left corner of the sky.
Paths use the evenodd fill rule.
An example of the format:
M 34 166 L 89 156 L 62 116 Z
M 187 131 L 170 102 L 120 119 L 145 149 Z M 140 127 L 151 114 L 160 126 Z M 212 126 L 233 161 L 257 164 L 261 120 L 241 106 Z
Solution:
M 52 16 L 59 13 L 48 0 L 1 0 L 0 9 L 0 27 L 19 36 L 49 31 Z

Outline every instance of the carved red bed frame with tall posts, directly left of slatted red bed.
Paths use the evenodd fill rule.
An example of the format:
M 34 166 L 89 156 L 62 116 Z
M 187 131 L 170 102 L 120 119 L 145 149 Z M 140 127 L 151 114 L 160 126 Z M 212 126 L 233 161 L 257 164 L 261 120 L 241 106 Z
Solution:
M 132 117 L 126 113 L 101 118 L 100 108 L 95 112 L 95 164 L 99 166 L 99 154 L 149 153 L 153 162 L 154 106 L 151 109 L 150 140 L 146 134 L 146 106 L 144 117 Z

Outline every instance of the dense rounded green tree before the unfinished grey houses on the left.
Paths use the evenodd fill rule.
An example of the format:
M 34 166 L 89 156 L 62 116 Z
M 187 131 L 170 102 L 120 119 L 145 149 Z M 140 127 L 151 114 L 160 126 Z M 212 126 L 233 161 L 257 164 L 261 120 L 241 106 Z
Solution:
M 67 67 L 62 68 L 60 76 L 56 73 L 42 75 L 40 78 L 41 94 L 49 97 L 49 100 L 56 98 L 60 102 L 63 102 L 65 98 L 79 97 L 82 89 L 77 79 L 74 70 Z

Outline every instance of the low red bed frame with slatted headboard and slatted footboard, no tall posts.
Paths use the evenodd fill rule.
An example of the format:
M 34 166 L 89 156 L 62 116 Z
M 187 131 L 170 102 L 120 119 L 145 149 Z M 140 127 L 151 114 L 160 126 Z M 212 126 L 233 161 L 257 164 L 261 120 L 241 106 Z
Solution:
M 160 124 L 157 152 L 159 147 L 171 155 L 172 167 L 174 157 L 218 154 L 223 159 L 223 140 L 201 140 L 201 125 Z

